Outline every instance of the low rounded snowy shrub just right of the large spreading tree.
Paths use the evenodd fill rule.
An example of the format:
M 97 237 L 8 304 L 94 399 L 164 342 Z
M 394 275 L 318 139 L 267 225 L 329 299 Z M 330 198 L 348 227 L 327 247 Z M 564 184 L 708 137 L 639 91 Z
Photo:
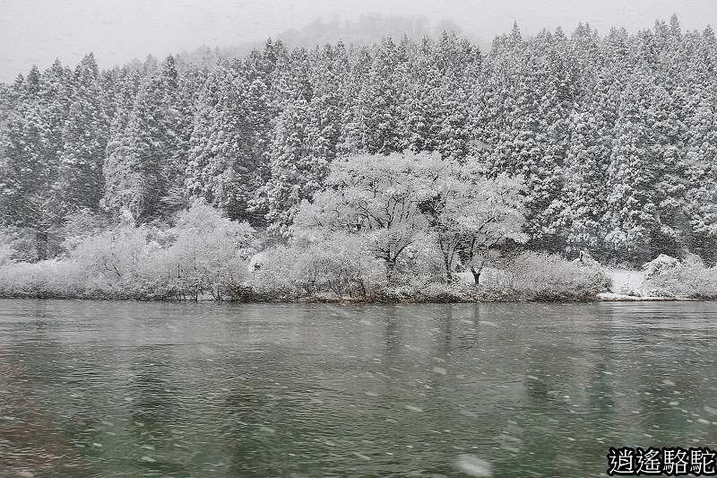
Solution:
M 507 272 L 512 276 L 509 287 L 528 300 L 587 300 L 610 287 L 600 267 L 547 253 L 525 252 Z

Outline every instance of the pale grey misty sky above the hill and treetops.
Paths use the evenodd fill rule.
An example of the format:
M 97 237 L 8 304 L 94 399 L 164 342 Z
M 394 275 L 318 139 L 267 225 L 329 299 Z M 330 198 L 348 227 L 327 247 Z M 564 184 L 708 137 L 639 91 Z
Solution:
M 678 13 L 683 28 L 717 26 L 717 0 L 0 0 L 0 81 L 55 57 L 74 65 L 93 51 L 100 66 L 151 53 L 236 45 L 301 28 L 317 17 L 352 20 L 361 13 L 452 20 L 489 41 L 519 22 L 523 33 L 590 22 L 650 28 Z

